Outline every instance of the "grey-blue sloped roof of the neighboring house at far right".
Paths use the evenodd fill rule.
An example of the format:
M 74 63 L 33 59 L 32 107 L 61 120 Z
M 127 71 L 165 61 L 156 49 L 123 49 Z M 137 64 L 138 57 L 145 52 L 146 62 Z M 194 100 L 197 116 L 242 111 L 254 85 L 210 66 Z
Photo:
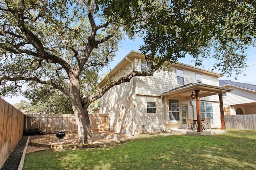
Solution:
M 230 80 L 219 80 L 220 86 L 233 86 L 237 88 L 242 88 L 244 90 L 250 90 L 256 92 L 256 86 L 253 84 L 233 82 Z

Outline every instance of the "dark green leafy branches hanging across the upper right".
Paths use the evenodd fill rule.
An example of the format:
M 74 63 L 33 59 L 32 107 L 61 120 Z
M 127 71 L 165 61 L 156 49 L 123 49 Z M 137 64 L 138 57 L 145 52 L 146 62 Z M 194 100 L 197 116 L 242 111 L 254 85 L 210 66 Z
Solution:
M 255 45 L 255 0 L 98 2 L 104 4 L 110 21 L 121 21 L 133 33 L 144 36 L 140 51 L 158 63 L 157 67 L 188 54 L 194 57 L 195 65 L 214 58 L 214 68 L 223 74 L 240 74 L 246 68 L 246 48 Z

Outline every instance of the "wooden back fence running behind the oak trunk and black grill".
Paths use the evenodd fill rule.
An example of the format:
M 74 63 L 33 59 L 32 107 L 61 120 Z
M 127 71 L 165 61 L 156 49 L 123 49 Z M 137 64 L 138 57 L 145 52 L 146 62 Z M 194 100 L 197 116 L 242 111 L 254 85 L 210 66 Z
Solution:
M 109 130 L 108 114 L 90 114 L 90 125 L 92 131 Z M 74 114 L 62 115 L 25 115 L 24 129 L 38 128 L 47 133 L 56 133 L 57 131 L 66 131 L 67 133 L 77 132 L 78 127 Z

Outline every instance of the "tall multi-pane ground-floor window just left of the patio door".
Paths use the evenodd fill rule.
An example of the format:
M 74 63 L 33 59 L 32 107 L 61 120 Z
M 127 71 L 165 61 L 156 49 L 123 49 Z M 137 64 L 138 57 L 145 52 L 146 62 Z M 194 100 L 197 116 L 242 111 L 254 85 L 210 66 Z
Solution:
M 169 99 L 169 117 L 170 117 L 170 121 L 180 120 L 179 100 Z

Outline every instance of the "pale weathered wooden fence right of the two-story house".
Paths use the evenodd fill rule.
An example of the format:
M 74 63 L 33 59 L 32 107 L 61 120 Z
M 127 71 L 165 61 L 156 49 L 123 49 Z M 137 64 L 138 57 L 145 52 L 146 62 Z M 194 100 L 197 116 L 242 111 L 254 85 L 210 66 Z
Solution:
M 227 129 L 256 130 L 256 115 L 225 115 Z

